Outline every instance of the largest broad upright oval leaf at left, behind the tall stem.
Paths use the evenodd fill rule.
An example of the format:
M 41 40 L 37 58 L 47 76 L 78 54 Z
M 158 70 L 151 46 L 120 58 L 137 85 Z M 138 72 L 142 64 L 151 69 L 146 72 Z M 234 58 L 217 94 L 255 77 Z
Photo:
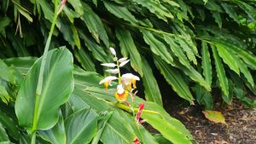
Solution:
M 15 112 L 20 126 L 26 130 L 49 130 L 58 121 L 58 109 L 73 91 L 73 56 L 67 49 L 49 51 L 42 95 L 37 95 L 38 74 L 42 58 L 31 67 L 21 84 L 15 102 Z

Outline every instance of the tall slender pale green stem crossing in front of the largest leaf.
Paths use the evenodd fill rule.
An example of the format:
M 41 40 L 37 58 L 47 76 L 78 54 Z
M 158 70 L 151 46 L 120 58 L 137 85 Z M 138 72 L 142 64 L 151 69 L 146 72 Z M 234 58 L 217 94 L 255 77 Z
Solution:
M 45 63 L 47 60 L 47 54 L 48 54 L 48 50 L 49 50 L 49 43 L 51 41 L 51 37 L 52 34 L 54 32 L 55 29 L 55 22 L 57 20 L 58 14 L 57 14 L 57 2 L 58 0 L 55 0 L 55 15 L 54 18 L 52 20 L 52 24 L 50 27 L 50 31 L 49 31 L 49 36 L 47 38 L 45 47 L 44 47 L 44 55 L 42 56 L 42 61 L 41 61 L 41 66 L 40 66 L 40 72 L 38 75 L 38 85 L 37 85 L 37 89 L 36 89 L 36 100 L 35 100 L 35 110 L 34 110 L 34 115 L 33 115 L 33 123 L 32 123 L 32 144 L 36 143 L 36 131 L 38 130 L 38 105 L 39 105 L 39 97 L 42 94 L 42 89 L 43 89 L 43 80 L 44 80 L 44 67 L 45 67 Z

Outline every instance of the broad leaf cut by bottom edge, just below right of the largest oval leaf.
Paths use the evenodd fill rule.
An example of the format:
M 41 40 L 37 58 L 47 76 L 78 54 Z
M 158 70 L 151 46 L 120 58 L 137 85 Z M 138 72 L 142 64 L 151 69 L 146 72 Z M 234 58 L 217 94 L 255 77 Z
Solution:
M 96 135 L 98 115 L 91 109 L 74 112 L 65 120 L 67 144 L 89 143 Z

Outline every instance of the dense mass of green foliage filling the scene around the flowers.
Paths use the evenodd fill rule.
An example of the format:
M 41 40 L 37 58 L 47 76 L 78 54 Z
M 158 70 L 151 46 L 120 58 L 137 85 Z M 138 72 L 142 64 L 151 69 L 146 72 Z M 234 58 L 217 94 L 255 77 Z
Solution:
M 43 83 L 47 87 L 42 89 L 42 100 L 34 103 L 42 58 L 28 56 L 43 55 L 54 3 L 1 1 L 0 97 L 8 106 L 1 103 L 0 140 L 26 143 L 30 136 L 25 130 L 39 130 L 42 143 L 87 143 L 93 137 L 103 143 L 131 143 L 136 135 L 147 144 L 163 137 L 189 143 L 193 138 L 188 130 L 161 107 L 161 85 L 154 74 L 160 72 L 177 95 L 191 104 L 196 100 L 212 109 L 214 90 L 228 104 L 236 95 L 247 107 L 255 106 L 256 101 L 247 97 L 256 95 L 255 7 L 254 0 L 68 0 L 49 45 Z M 67 49 L 55 49 L 63 45 L 73 55 Z M 143 118 L 161 135 L 151 135 L 141 125 L 138 129 L 131 115 L 109 103 L 116 101 L 114 89 L 106 92 L 98 84 L 102 77 L 96 72 L 107 74 L 99 63 L 112 61 L 110 46 L 131 58 L 131 67 L 125 69 L 141 76 L 147 100 L 137 98 L 137 105 L 143 101 L 146 109 L 160 112 L 144 113 Z M 83 69 L 74 66 L 73 70 L 73 57 Z M 34 111 L 39 113 L 36 120 Z M 47 118 L 46 112 L 54 117 Z M 124 121 L 131 123 L 124 125 Z

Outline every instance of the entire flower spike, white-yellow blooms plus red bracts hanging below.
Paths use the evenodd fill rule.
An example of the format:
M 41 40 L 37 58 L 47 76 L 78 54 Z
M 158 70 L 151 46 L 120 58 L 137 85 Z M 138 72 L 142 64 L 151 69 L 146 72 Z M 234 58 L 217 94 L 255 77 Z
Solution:
M 116 56 L 116 52 L 113 48 L 110 48 L 110 52 L 113 55 L 113 63 L 103 63 L 102 66 L 109 67 L 106 72 L 109 72 L 113 74 L 113 76 L 108 76 L 106 78 L 103 78 L 100 82 L 100 84 L 104 84 L 105 90 L 108 90 L 108 86 L 112 86 L 111 82 L 113 80 L 118 80 L 119 84 L 117 85 L 116 92 L 114 94 L 116 100 L 118 102 L 125 102 L 125 104 L 131 108 L 131 112 L 133 113 L 133 116 L 135 117 L 135 121 L 137 125 L 142 124 L 145 120 L 140 120 L 141 115 L 143 113 L 143 107 L 144 104 L 140 103 L 139 107 L 137 109 L 137 114 L 135 116 L 135 111 L 133 108 L 133 99 L 135 95 L 137 95 L 137 91 L 134 91 L 134 89 L 137 89 L 136 82 L 140 80 L 136 75 L 133 75 L 132 73 L 125 73 L 121 75 L 120 67 L 125 66 L 130 60 L 126 57 L 118 59 Z M 118 75 L 118 76 L 116 76 Z M 131 104 L 126 101 L 127 97 L 131 95 Z M 137 137 L 132 141 L 134 144 L 140 144 L 141 142 Z

